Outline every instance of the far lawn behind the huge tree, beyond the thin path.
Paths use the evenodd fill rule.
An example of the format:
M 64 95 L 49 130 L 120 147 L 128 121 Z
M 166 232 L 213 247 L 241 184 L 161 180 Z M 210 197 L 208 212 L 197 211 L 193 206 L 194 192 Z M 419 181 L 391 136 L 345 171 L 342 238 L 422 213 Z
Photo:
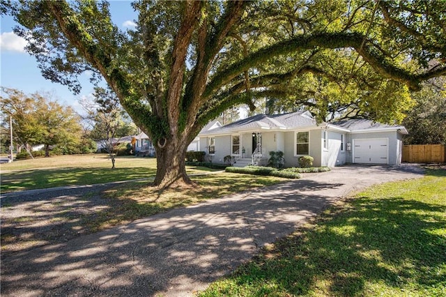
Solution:
M 116 157 L 116 168 L 105 154 L 62 155 L 52 158 L 18 160 L 1 165 L 1 192 L 14 192 L 151 178 L 156 174 L 154 158 Z M 215 171 L 187 167 L 188 174 Z

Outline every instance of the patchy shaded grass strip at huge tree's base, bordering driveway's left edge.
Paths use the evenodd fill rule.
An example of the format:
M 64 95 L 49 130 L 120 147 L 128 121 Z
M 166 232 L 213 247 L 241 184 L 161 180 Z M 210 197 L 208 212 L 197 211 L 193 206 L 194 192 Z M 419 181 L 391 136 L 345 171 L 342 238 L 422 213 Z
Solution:
M 148 186 L 146 181 L 132 181 L 105 192 L 89 192 L 82 197 L 50 201 L 18 199 L 8 204 L 1 201 L 3 214 L 19 213 L 2 220 L 1 251 L 5 254 L 61 243 L 171 208 L 286 181 L 270 176 L 229 173 L 193 176 L 192 180 L 199 187 L 160 192 Z

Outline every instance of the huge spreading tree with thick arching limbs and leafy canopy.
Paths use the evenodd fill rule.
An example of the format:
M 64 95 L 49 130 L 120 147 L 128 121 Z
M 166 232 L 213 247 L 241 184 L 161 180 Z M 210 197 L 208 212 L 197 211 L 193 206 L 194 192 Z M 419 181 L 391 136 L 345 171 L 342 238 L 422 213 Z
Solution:
M 445 1 L 141 0 L 133 7 L 137 29 L 127 32 L 112 23 L 107 2 L 20 1 L 7 10 L 44 77 L 73 91 L 84 70 L 105 79 L 153 140 L 161 188 L 191 183 L 187 145 L 224 110 L 286 98 L 292 89 L 282 86 L 307 73 L 339 78 L 342 63 L 318 66 L 324 50 L 330 61 L 351 54 L 352 74 L 367 63 L 412 90 L 446 73 Z

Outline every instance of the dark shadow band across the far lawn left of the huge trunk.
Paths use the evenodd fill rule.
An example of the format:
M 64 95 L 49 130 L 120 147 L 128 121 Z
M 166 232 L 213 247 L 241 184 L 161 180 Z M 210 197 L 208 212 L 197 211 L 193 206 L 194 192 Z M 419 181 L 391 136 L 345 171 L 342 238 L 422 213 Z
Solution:
M 111 181 L 126 181 L 155 176 L 156 169 L 132 168 L 84 168 L 36 169 L 1 174 L 1 192 L 54 188 L 64 185 L 91 185 Z

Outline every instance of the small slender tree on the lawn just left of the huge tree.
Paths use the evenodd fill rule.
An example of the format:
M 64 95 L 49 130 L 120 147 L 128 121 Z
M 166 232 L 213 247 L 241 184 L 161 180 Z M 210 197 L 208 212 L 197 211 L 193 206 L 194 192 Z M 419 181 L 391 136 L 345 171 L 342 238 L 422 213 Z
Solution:
M 93 96 L 94 102 L 80 102 L 87 112 L 84 119 L 91 127 L 89 137 L 109 154 L 109 158 L 112 160 L 112 169 L 114 169 L 118 139 L 134 135 L 136 127 L 128 120 L 128 115 L 119 105 L 119 99 L 112 90 L 95 87 Z

